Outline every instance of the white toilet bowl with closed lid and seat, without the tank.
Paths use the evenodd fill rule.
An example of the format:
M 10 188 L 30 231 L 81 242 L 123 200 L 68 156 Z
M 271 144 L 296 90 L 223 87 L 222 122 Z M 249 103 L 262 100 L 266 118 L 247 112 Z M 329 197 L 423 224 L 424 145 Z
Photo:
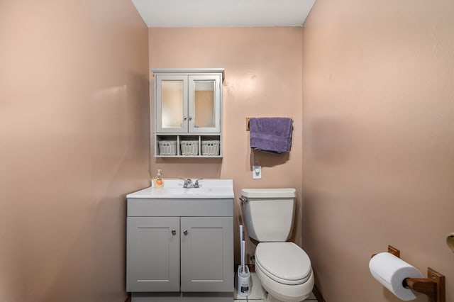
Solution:
M 293 242 L 260 242 L 255 272 L 262 287 L 280 301 L 303 301 L 314 288 L 311 260 Z

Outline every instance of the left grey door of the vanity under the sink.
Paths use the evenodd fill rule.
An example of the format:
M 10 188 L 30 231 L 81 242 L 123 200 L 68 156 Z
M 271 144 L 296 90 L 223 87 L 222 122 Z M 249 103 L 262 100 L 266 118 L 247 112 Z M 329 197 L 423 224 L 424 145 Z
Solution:
M 179 217 L 127 218 L 126 291 L 179 291 Z

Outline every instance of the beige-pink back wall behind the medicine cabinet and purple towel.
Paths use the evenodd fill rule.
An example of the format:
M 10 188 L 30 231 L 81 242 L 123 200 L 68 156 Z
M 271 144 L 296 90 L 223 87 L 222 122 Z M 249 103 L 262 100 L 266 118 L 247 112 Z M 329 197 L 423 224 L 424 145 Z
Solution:
M 152 173 L 162 169 L 167 178 L 233 179 L 236 226 L 242 188 L 294 187 L 298 206 L 293 237 L 301 244 L 301 28 L 150 28 L 149 33 L 150 68 L 226 69 L 223 159 L 152 157 Z M 260 116 L 294 118 L 289 155 L 251 155 L 245 118 Z M 253 180 L 251 163 L 262 165 L 262 179 Z M 238 232 L 235 238 L 237 242 Z M 255 248 L 246 245 L 249 253 Z M 237 245 L 236 262 L 238 251 Z

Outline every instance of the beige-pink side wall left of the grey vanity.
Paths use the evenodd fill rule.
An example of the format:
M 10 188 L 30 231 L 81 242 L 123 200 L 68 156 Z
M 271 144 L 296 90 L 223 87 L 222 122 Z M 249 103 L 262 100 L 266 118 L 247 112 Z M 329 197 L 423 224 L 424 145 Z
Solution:
M 1 1 L 0 45 L 0 301 L 124 301 L 148 29 L 131 1 Z

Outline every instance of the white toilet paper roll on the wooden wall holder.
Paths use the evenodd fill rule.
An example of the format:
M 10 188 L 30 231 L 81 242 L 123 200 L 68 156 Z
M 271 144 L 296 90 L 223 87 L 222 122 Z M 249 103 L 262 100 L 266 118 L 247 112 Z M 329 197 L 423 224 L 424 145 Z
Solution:
M 406 278 L 422 278 L 423 274 L 416 267 L 389 252 L 381 252 L 370 259 L 370 274 L 397 298 L 409 301 L 416 299 L 414 291 L 406 289 L 402 281 Z

